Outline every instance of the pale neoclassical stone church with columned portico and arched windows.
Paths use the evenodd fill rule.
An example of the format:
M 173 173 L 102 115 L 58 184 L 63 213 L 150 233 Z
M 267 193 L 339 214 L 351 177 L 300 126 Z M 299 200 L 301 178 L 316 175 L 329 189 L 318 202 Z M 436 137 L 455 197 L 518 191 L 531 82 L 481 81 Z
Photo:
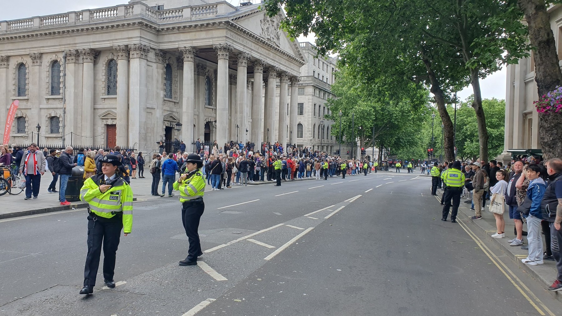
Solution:
M 283 12 L 242 4 L 131 0 L 0 21 L 2 124 L 19 100 L 10 143 L 37 140 L 38 124 L 42 146 L 287 143 L 306 60 Z

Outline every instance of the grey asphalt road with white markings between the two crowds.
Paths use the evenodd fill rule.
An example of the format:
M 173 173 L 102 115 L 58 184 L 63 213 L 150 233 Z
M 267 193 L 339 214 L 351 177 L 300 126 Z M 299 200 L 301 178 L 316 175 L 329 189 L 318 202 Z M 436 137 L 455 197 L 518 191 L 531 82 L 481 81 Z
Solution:
M 189 267 L 177 198 L 143 194 L 117 251 L 119 286 L 102 289 L 98 274 L 92 296 L 78 295 L 85 209 L 3 219 L 0 315 L 559 315 L 468 219 L 439 221 L 429 185 L 371 173 L 209 191 L 206 250 Z

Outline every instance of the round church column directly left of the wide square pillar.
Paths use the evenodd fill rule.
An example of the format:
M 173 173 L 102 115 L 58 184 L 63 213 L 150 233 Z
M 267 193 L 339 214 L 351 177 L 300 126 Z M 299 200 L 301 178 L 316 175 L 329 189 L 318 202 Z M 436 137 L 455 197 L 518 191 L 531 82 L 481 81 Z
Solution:
M 129 146 L 129 47 L 128 45 L 119 45 L 113 49 L 117 56 L 116 143 L 117 146 L 125 148 Z

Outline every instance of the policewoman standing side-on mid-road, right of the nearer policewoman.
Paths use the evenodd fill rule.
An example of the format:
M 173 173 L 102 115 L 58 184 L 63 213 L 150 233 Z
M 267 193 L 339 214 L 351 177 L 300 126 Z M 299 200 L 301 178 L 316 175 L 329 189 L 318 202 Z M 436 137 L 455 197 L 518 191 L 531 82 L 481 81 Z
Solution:
M 178 181 L 174 182 L 174 190 L 179 191 L 179 201 L 182 203 L 182 222 L 185 235 L 189 239 L 187 258 L 181 260 L 179 265 L 196 265 L 197 257 L 202 255 L 199 241 L 199 220 L 205 210 L 203 194 L 205 194 L 205 178 L 199 170 L 203 166 L 200 155 L 189 154 L 185 159 L 186 171 Z

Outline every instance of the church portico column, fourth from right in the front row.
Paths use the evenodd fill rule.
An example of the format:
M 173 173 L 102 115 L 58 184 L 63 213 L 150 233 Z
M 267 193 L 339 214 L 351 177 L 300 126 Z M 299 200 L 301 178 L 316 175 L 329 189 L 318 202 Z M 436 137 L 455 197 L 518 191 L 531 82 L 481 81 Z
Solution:
M 264 141 L 264 104 L 262 86 L 264 85 L 264 67 L 265 62 L 253 62 L 253 97 L 252 97 L 252 140 L 255 141 L 259 148 L 261 142 Z M 260 148 L 261 150 L 261 148 Z

